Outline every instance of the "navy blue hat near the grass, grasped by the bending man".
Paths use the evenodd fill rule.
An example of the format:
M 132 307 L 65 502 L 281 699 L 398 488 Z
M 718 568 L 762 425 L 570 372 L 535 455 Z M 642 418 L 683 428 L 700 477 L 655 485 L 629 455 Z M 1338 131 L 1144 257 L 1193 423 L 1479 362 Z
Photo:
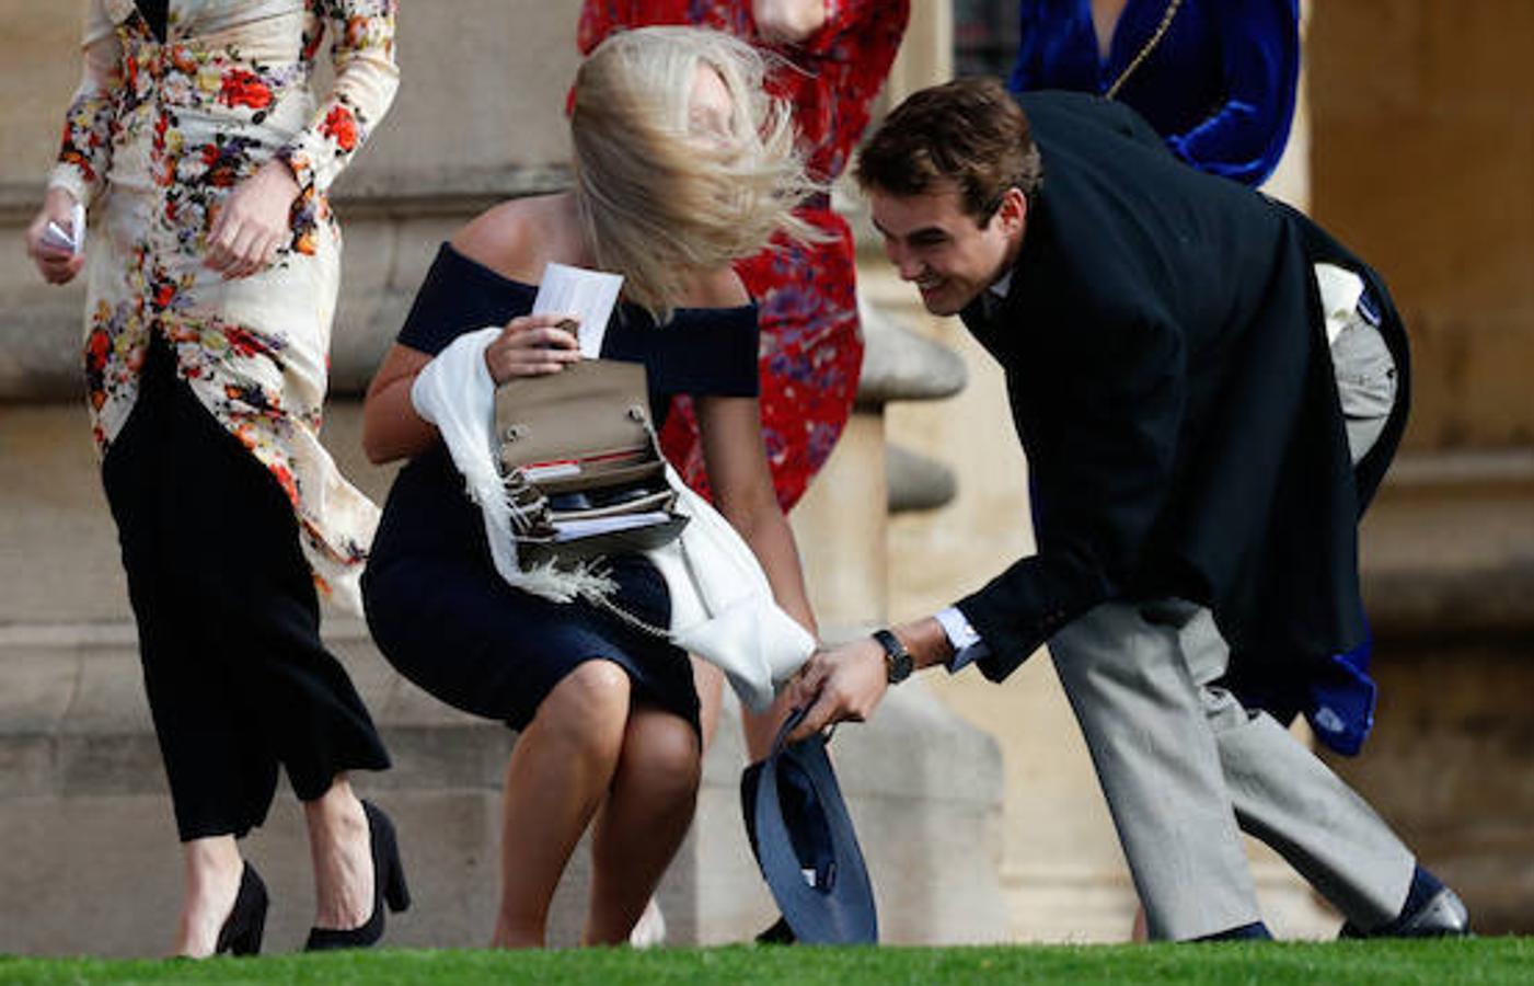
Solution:
M 795 937 L 807 945 L 873 945 L 879 914 L 858 834 L 825 756 L 825 737 L 788 745 L 795 710 L 772 754 L 741 774 L 741 808 L 756 865 Z

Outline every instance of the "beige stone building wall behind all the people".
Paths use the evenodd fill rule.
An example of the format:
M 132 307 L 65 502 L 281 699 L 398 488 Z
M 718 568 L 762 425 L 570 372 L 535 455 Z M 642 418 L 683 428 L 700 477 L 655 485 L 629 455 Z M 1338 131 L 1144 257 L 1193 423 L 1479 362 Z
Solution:
M 1463 889 L 1482 931 L 1529 931 L 1534 733 L 1519 700 L 1534 683 L 1534 94 L 1520 66 L 1534 5 L 1304 6 L 1309 101 L 1272 190 L 1309 201 L 1384 272 L 1413 335 L 1417 387 L 1405 453 L 1364 534 L 1379 726 L 1361 759 L 1338 766 Z M 400 98 L 337 186 L 347 255 L 327 442 L 374 495 L 388 473 L 357 450 L 356 395 L 436 241 L 497 198 L 565 181 L 560 108 L 577 8 L 403 5 Z M 175 898 L 175 846 L 78 405 L 83 292 L 40 284 L 20 247 L 78 75 L 78 25 L 69 5 L 23 0 L 0 0 L 0 238 L 11 244 L 0 250 L 0 952 L 83 948 L 78 929 L 98 926 L 112 928 L 97 938 L 103 951 L 152 952 L 163 940 L 152 911 L 170 914 Z M 950 3 L 916 0 L 891 94 L 945 78 L 953 48 Z M 957 321 L 923 316 L 876 252 L 862 269 L 882 315 L 870 361 L 884 362 L 795 516 L 833 633 L 931 611 L 1031 538 L 996 367 Z M 931 385 L 953 378 L 951 353 L 963 390 L 910 399 L 953 389 Z M 887 445 L 916 453 L 890 456 L 888 495 L 900 499 L 910 482 L 896 465 L 933 476 L 937 462 L 954 481 L 951 502 L 887 518 Z M 434 917 L 402 921 L 399 940 L 485 940 L 485 854 L 511 739 L 394 679 L 359 624 L 327 628 L 396 751 L 397 769 L 379 779 L 393 788 L 385 797 L 403 826 L 440 834 L 419 849 L 440 874 Z M 905 751 L 900 769 L 885 762 L 891 745 Z M 1000 687 L 931 674 L 874 723 L 847 730 L 838 749 L 888 938 L 1127 937 L 1127 874 L 1046 660 Z M 738 940 L 770 915 L 736 834 L 739 756 L 727 723 L 695 835 L 661 895 L 676 941 Z M 279 811 L 268 829 L 256 851 L 275 882 L 307 892 L 296 812 Z M 1276 931 L 1332 932 L 1336 918 L 1276 860 L 1259 852 L 1258 872 Z M 117 928 L 130 898 L 146 902 L 146 917 Z M 49 909 L 72 928 L 40 921 Z M 275 915 L 276 931 L 296 937 L 304 918 L 304 908 Z

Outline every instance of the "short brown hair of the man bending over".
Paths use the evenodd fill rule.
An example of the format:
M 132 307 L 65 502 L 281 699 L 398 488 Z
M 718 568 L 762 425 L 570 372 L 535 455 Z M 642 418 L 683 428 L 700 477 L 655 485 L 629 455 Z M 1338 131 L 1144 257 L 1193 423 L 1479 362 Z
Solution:
M 864 192 L 891 195 L 923 195 L 953 181 L 963 210 L 985 226 L 1006 189 L 1032 201 L 1043 167 L 1022 108 L 1000 81 L 977 77 L 922 89 L 896 106 L 858 155 L 853 177 Z

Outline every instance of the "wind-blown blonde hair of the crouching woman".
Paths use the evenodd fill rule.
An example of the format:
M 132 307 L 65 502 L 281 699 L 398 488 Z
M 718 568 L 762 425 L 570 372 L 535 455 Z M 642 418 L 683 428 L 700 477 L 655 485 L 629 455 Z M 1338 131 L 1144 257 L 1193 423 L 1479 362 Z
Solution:
M 727 132 L 690 120 L 700 66 L 729 92 Z M 571 137 L 583 232 L 598 266 L 660 321 L 696 272 L 752 256 L 779 230 L 813 237 L 792 209 L 824 189 L 764 80 L 750 45 L 701 28 L 623 31 L 580 66 Z

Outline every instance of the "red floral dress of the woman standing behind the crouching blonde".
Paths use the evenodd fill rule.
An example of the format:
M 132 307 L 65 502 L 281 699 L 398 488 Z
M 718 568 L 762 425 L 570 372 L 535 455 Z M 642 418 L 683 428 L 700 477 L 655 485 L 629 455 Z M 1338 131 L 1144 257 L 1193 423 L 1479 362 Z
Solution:
M 578 43 L 589 54 L 618 28 L 696 25 L 727 31 L 787 58 L 769 88 L 795 111 L 799 138 L 818 178 L 836 178 L 868 123 L 868 109 L 894 61 L 908 0 L 825 0 L 825 26 L 798 46 L 769 46 L 750 0 L 586 0 Z M 798 215 L 827 243 L 767 250 L 736 264 L 761 306 L 761 409 L 767 461 L 784 510 L 804 495 L 830 458 L 858 395 L 862 333 L 853 235 L 824 201 Z M 707 493 L 698 424 L 678 398 L 661 432 L 666 456 Z

